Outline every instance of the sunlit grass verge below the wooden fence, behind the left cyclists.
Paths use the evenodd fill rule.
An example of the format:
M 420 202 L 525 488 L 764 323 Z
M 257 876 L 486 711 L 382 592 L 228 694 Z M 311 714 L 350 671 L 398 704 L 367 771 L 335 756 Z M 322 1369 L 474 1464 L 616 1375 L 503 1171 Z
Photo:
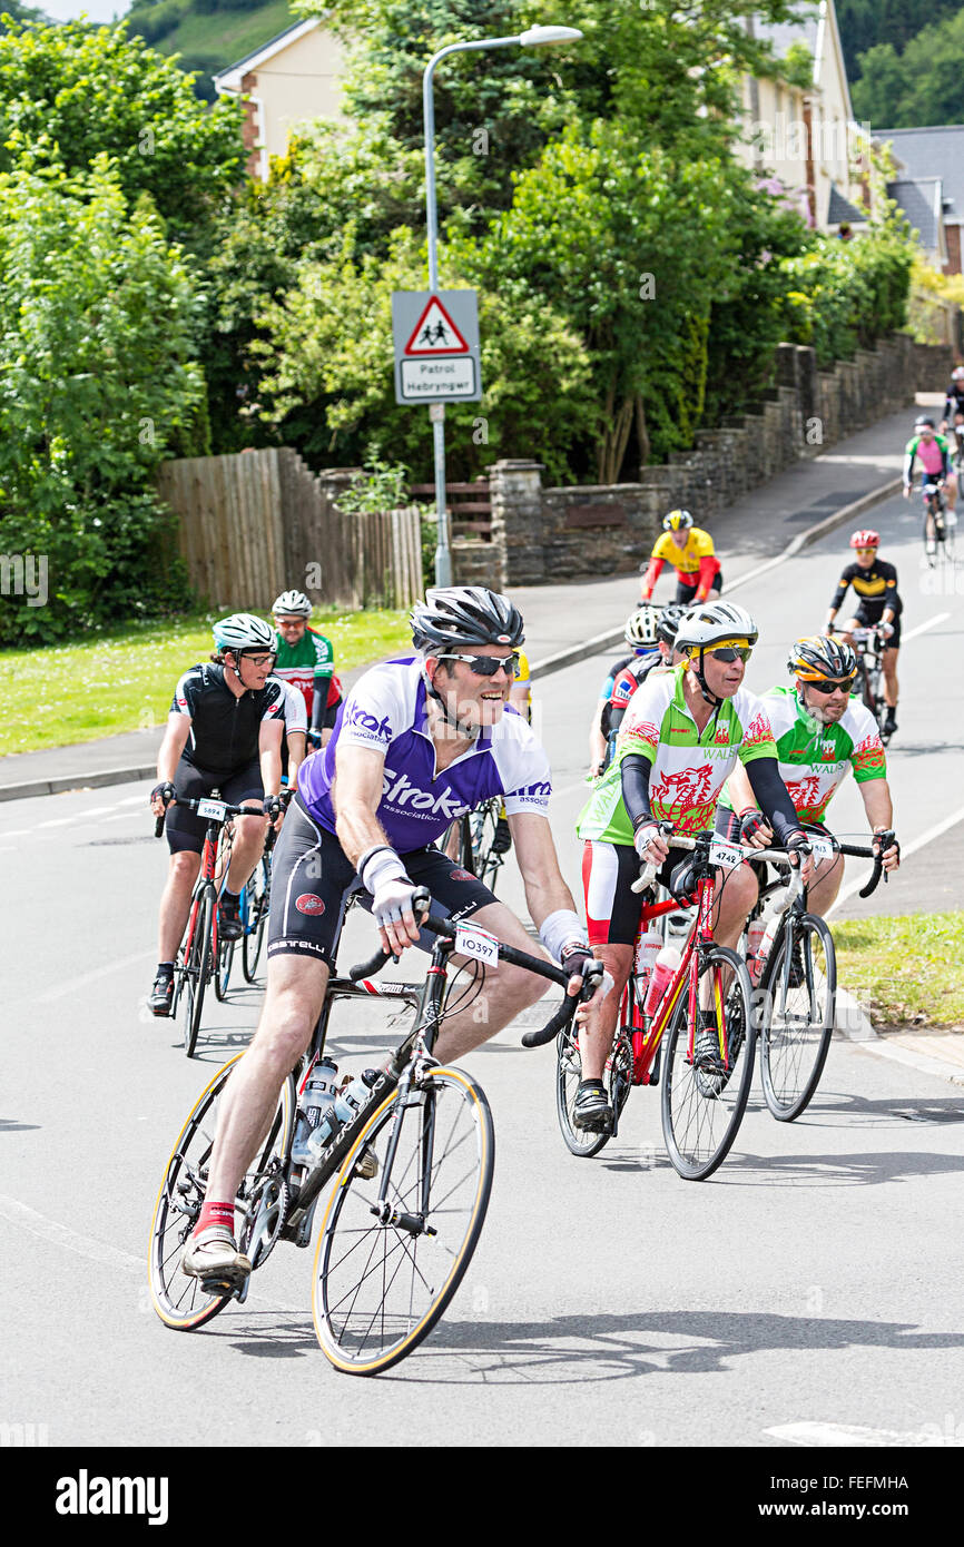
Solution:
M 388 611 L 326 611 L 316 613 L 311 623 L 331 640 L 334 668 L 340 673 L 410 647 L 407 617 Z M 214 613 L 197 613 L 105 631 L 84 644 L 5 650 L 0 756 L 162 724 L 181 673 L 210 654 L 214 620 Z

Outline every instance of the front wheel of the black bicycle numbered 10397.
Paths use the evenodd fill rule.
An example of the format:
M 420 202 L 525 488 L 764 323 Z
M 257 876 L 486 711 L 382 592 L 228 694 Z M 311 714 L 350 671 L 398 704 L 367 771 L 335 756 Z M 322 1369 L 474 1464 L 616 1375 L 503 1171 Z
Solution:
M 374 1375 L 429 1335 L 472 1259 L 494 1166 L 489 1103 L 460 1069 L 433 1069 L 373 1112 L 314 1258 L 314 1327 L 336 1369 Z

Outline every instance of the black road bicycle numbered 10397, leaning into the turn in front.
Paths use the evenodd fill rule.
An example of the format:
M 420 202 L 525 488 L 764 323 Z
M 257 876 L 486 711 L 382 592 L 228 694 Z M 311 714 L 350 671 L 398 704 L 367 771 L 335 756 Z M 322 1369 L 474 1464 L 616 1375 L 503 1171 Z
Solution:
M 429 893 L 415 894 L 422 913 Z M 492 1115 L 481 1086 L 432 1054 L 438 1029 L 453 1009 L 446 1002 L 449 959 L 470 958 L 469 992 L 481 989 L 484 965 L 525 967 L 562 987 L 566 975 L 537 956 L 503 945 L 469 924 L 426 914 L 421 927 L 436 936 L 424 984 L 382 982 L 371 976 L 382 951 L 347 978 L 331 978 L 311 1047 L 288 1075 L 279 1105 L 235 1197 L 240 1250 L 257 1272 L 279 1241 L 308 1247 L 319 1197 L 328 1194 L 314 1255 L 313 1315 L 322 1349 L 347 1374 L 373 1375 L 405 1358 L 429 1335 L 469 1265 L 489 1205 L 495 1163 Z M 480 964 L 481 968 L 480 970 Z M 586 973 L 582 995 L 563 998 L 546 1032 L 566 1026 L 599 975 Z M 292 1163 L 291 1146 L 309 1071 L 325 1049 L 331 1009 L 342 999 L 388 999 L 409 1010 L 412 1029 L 371 1078 L 368 1098 L 337 1129 L 311 1166 Z M 238 1058 L 243 1055 L 238 1055 Z M 217 1134 L 218 1101 L 238 1058 L 203 1092 L 167 1162 L 150 1231 L 150 1289 L 156 1313 L 176 1330 L 195 1330 L 240 1295 L 200 1284 L 179 1270 L 187 1236 L 198 1219 Z M 251 1281 L 248 1281 L 251 1282 Z

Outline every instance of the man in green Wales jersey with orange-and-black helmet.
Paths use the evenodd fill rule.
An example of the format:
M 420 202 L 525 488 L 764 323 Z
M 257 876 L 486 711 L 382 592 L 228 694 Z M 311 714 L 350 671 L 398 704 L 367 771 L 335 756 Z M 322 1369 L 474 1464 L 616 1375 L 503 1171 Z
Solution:
M 800 821 L 823 826 L 826 808 L 853 769 L 874 837 L 893 831 L 894 808 L 880 732 L 870 710 L 849 696 L 857 676 L 854 651 L 828 634 L 811 634 L 795 640 L 788 668 L 794 685 L 772 687 L 761 702 L 777 739 L 780 778 Z M 727 780 L 716 831 L 733 843 L 755 848 L 772 842 L 772 829 L 741 767 Z M 884 851 L 884 869 L 894 871 L 899 863 L 901 846 L 894 840 Z M 808 911 L 823 916 L 842 880 L 842 855 L 822 859 L 809 883 Z

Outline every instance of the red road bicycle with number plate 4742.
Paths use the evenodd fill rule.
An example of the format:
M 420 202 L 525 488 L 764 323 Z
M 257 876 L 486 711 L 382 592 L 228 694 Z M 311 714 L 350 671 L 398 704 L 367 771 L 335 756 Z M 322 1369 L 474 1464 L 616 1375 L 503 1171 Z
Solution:
M 672 832 L 672 823 L 659 823 Z M 712 832 L 672 837 L 672 846 L 693 854 L 687 893 L 695 888 L 696 916 L 682 944 L 682 959 L 653 1015 L 645 1013 L 650 975 L 639 972 L 639 956 L 622 995 L 607 1084 L 613 1106 L 610 1132 L 576 1126 L 574 1101 L 582 1078 L 579 1040 L 573 1027 L 529 1032 L 523 1046 L 538 1047 L 555 1035 L 555 1111 L 563 1140 L 574 1156 L 599 1154 L 619 1132 L 619 1118 L 638 1084 L 661 1084 L 662 1135 L 675 1170 L 690 1182 L 712 1176 L 726 1159 L 740 1128 L 754 1078 L 755 1030 L 752 985 L 743 958 L 712 934 L 716 865 L 733 845 Z M 645 866 L 634 891 L 651 886 L 655 868 Z M 675 897 L 642 907 L 641 933 L 658 917 L 678 910 Z M 696 1049 L 706 1030 L 699 1024 L 702 999 L 715 1009 L 716 1046 L 707 1058 Z M 665 1040 L 665 1050 L 662 1047 Z

